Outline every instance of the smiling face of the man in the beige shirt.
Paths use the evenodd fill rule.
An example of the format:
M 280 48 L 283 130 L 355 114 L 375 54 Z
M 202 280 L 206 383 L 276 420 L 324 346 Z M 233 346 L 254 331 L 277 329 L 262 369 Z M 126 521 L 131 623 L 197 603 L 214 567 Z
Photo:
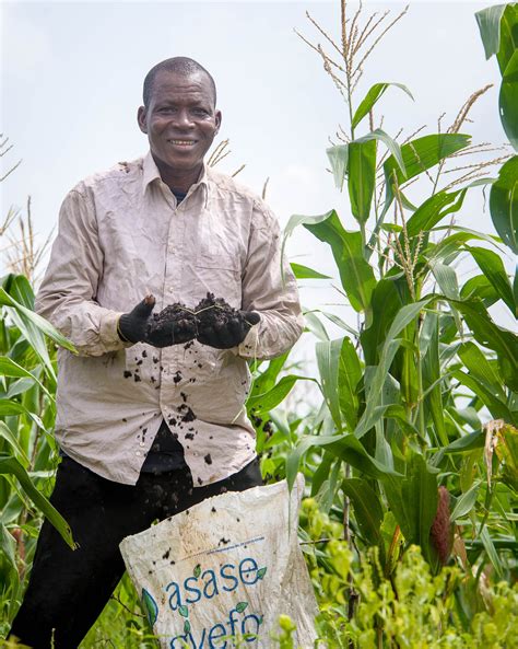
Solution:
M 160 70 L 138 118 L 164 182 L 189 176 L 196 182 L 221 124 L 208 76 Z

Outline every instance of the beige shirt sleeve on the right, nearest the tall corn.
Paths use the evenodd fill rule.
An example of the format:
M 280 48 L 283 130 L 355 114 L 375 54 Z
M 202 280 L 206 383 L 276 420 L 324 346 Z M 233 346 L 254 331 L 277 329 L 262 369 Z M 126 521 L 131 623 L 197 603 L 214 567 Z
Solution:
M 261 317 L 239 345 L 244 358 L 271 359 L 287 351 L 304 329 L 296 279 L 284 257 L 276 217 L 255 201 L 248 256 L 243 275 L 243 309 Z

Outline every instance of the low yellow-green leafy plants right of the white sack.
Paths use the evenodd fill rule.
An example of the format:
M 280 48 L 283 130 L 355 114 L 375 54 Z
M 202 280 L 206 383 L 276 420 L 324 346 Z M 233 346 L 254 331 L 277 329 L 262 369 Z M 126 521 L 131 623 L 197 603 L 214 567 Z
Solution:
M 314 499 L 303 501 L 302 524 L 307 538 L 326 538 L 307 551 L 320 605 L 319 648 L 517 646 L 518 584 L 498 582 L 481 591 L 458 566 L 435 576 L 415 545 L 388 571 L 378 546 L 355 556 L 341 538 L 341 525 Z M 379 533 L 387 555 L 398 553 L 393 530 L 386 514 Z

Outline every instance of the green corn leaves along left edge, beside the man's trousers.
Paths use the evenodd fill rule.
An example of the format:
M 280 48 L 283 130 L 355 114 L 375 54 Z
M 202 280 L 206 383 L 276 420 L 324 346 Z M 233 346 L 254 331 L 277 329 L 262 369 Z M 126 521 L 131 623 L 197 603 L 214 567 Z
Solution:
M 34 294 L 25 277 L 9 275 L 1 285 L 0 634 L 21 602 L 42 517 L 74 547 L 67 521 L 47 498 L 57 462 L 51 437 L 56 348 L 45 336 L 73 347 L 34 313 Z

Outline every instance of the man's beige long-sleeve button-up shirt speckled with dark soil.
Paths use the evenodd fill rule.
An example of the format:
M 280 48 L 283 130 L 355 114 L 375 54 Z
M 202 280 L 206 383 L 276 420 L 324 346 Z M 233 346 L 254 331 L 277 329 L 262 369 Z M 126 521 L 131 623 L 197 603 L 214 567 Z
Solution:
M 157 349 L 119 339 L 119 315 L 144 295 L 155 295 L 157 312 L 175 302 L 193 308 L 208 291 L 260 314 L 239 347 Z M 58 352 L 59 444 L 123 484 L 137 482 L 163 419 L 195 486 L 250 462 L 246 359 L 283 354 L 303 329 L 287 263 L 282 279 L 279 223 L 263 201 L 204 169 L 178 206 L 150 153 L 68 194 L 36 311 L 79 350 Z

